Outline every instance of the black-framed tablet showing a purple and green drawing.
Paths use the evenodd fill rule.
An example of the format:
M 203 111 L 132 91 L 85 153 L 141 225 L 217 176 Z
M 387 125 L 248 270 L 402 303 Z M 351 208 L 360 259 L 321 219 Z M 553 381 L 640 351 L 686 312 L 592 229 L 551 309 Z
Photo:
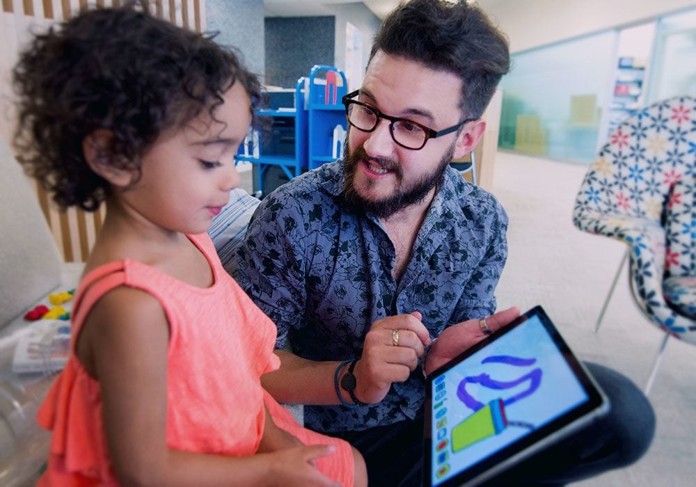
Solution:
M 425 486 L 477 485 L 608 411 L 540 306 L 427 377 Z

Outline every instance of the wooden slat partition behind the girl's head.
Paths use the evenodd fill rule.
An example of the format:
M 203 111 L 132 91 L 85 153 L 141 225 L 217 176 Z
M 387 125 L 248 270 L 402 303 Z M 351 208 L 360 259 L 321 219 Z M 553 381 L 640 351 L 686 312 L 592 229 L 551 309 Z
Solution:
M 30 29 L 69 19 L 81 8 L 120 6 L 123 0 L 2 0 L 0 12 L 0 136 L 12 142 L 15 111 L 11 71 Z M 160 18 L 196 32 L 205 29 L 205 0 L 155 0 Z M 0 161 L 0 170 L 3 163 Z M 38 184 L 31 182 L 40 207 L 65 262 L 84 262 L 104 221 L 104 205 L 94 213 L 58 209 Z M 2 211 L 0 209 L 0 211 Z

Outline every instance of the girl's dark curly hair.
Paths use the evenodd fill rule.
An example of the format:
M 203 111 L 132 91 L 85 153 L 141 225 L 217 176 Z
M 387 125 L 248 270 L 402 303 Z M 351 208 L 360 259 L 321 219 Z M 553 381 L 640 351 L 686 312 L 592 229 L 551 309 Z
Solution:
M 17 159 L 61 207 L 94 211 L 109 194 L 82 150 L 95 130 L 113 134 L 100 155 L 138 175 L 141 157 L 163 131 L 203 109 L 212 116 L 235 81 L 252 106 L 260 102 L 258 79 L 232 51 L 147 10 L 81 13 L 36 35 L 15 66 Z

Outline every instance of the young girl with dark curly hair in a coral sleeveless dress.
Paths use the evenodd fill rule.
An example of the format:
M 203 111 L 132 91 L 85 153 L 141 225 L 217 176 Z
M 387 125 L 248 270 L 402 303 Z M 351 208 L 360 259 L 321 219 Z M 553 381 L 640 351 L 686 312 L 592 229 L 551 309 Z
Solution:
M 365 485 L 356 450 L 261 388 L 276 328 L 205 233 L 239 184 L 255 77 L 126 7 L 38 35 L 14 81 L 26 170 L 63 207 L 107 209 L 38 414 L 53 431 L 40 484 Z

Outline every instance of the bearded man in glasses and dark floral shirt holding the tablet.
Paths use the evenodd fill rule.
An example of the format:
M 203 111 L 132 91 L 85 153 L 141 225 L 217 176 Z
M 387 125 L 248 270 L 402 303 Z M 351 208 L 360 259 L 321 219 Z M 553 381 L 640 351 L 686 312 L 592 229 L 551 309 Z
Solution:
M 480 140 L 480 117 L 508 67 L 507 41 L 478 8 L 397 7 L 363 86 L 345 98 L 344 160 L 271 193 L 239 249 L 235 278 L 278 326 L 282 365 L 264 387 L 309 405 L 306 426 L 361 450 L 372 485 L 420 484 L 421 365 L 434 370 L 519 314 L 493 314 L 507 215 L 448 167 Z M 647 400 L 622 376 L 591 371 L 633 401 L 635 415 L 620 413 L 644 433 L 614 434 L 608 423 L 611 434 L 588 432 L 592 443 L 539 454 L 508 472 L 512 479 L 580 479 L 647 449 Z

